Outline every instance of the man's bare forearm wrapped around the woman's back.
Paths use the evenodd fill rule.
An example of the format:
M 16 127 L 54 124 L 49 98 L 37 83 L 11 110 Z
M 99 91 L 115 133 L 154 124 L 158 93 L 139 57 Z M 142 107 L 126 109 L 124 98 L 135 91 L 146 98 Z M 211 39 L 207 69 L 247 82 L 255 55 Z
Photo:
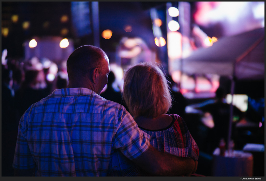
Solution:
M 197 170 L 197 161 L 159 152 L 151 145 L 132 161 L 144 171 L 158 176 L 191 175 Z

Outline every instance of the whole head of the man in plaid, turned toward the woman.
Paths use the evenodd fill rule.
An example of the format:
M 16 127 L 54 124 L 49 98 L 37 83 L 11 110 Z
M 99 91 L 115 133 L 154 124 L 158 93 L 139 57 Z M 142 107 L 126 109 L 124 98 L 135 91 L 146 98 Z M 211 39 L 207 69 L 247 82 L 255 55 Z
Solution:
M 99 95 L 108 82 L 109 59 L 101 48 L 84 45 L 69 56 L 66 69 L 69 88 L 85 87 Z

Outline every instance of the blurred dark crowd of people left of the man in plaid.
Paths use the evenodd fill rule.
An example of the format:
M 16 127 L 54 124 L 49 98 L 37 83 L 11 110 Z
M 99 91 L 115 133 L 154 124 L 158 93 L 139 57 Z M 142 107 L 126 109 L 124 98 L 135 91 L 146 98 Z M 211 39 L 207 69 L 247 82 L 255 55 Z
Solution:
M 66 88 L 66 61 L 60 64 L 33 57 L 6 58 L 2 52 L 2 176 L 12 176 L 12 162 L 20 117 L 53 90 Z M 5 156 L 3 156 L 5 155 Z

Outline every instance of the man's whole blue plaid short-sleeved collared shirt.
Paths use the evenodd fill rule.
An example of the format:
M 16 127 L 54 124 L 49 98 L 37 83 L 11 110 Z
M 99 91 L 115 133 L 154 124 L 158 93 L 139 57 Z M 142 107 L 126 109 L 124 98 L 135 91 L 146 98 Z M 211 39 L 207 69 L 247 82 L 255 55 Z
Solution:
M 35 176 L 106 176 L 115 149 L 134 159 L 149 139 L 120 104 L 86 88 L 56 89 L 21 117 L 13 167 L 35 168 Z

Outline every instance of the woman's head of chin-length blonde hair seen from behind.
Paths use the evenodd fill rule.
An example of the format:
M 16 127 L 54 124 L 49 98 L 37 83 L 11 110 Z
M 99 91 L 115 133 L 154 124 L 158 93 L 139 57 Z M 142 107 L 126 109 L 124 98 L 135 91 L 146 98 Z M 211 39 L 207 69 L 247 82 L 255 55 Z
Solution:
M 158 65 L 140 63 L 124 76 L 123 100 L 132 116 L 155 118 L 172 105 L 170 88 Z

